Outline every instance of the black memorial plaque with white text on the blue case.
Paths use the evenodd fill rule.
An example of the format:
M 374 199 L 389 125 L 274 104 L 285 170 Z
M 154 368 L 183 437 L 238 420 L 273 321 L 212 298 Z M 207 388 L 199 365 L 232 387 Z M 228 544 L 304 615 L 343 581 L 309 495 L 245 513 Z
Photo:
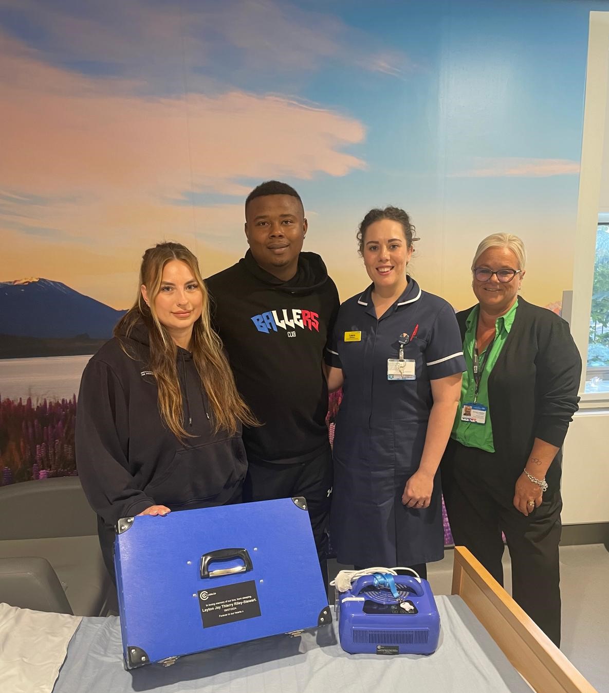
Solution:
M 203 628 L 260 616 L 254 580 L 201 590 L 198 595 Z

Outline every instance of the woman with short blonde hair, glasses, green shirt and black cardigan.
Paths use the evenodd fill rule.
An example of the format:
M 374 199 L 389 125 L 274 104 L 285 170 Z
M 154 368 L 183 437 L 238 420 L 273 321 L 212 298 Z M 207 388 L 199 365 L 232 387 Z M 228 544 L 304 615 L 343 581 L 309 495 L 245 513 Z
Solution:
M 558 645 L 561 446 L 581 359 L 565 320 L 518 294 L 525 265 L 513 234 L 487 236 L 475 252 L 478 303 L 457 313 L 467 369 L 442 489 L 455 544 L 500 584 L 505 534 L 513 598 Z

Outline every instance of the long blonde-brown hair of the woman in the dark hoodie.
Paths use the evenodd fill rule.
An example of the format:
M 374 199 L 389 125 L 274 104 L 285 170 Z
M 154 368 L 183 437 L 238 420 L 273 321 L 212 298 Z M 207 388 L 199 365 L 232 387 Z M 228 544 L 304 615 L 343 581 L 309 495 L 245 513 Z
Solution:
M 167 328 L 159 321 L 154 308 L 154 299 L 161 290 L 163 269 L 172 260 L 179 260 L 188 265 L 203 294 L 201 317 L 192 326 L 192 360 L 210 402 L 215 432 L 224 429 L 230 435 L 235 435 L 240 423 L 259 426 L 255 416 L 237 392 L 235 378 L 222 350 L 222 342 L 210 324 L 209 294 L 199 271 L 199 263 L 184 245 L 158 243 L 154 248 L 147 249 L 140 267 L 139 286 L 144 285 L 147 288 L 149 304 L 144 301 L 138 289 L 134 305 L 120 319 L 114 328 L 114 335 L 119 340 L 122 335 L 129 337 L 134 326 L 140 321 L 147 327 L 150 367 L 158 387 L 158 410 L 177 438 L 183 440 L 192 437 L 184 428 L 182 391 L 176 367 L 177 347 Z M 136 354 L 127 351 L 126 345 L 122 342 L 121 347 L 127 356 L 137 358 Z

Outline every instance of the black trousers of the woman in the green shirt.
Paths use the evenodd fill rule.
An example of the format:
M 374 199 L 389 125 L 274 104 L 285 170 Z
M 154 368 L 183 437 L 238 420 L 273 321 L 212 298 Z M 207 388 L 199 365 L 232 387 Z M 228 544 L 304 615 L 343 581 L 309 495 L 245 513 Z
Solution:
M 467 547 L 503 585 L 503 532 L 511 559 L 513 599 L 560 645 L 560 491 L 546 492 L 542 504 L 525 517 L 512 503 L 514 484 L 522 470 L 509 471 L 498 453 L 451 440 L 441 468 L 455 545 Z

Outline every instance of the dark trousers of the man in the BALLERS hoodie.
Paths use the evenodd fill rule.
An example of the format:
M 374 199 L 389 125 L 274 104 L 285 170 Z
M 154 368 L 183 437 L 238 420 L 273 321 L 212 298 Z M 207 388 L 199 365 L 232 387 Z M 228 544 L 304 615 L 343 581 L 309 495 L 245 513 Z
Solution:
M 297 464 L 249 462 L 243 500 L 304 496 L 324 583 L 328 584 L 327 549 L 332 490 L 332 453 L 328 444 L 316 457 Z

